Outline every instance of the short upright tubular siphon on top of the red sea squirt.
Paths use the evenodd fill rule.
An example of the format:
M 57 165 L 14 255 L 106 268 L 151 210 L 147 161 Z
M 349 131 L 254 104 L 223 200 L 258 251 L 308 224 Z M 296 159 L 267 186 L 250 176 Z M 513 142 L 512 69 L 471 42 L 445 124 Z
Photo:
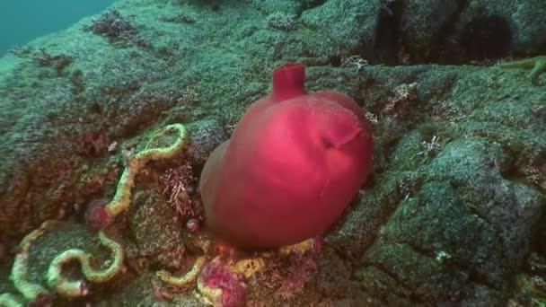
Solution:
M 305 66 L 288 62 L 273 72 L 273 101 L 286 101 L 305 94 Z

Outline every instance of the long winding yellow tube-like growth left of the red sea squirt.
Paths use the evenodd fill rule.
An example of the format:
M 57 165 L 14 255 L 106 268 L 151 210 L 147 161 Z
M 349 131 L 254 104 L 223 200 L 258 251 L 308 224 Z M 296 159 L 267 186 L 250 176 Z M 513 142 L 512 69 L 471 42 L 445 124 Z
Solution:
M 15 288 L 22 294 L 24 300 L 29 303 L 52 302 L 52 293 L 61 294 L 67 297 L 84 296 L 89 293 L 86 282 L 102 283 L 109 281 L 116 276 L 123 268 L 124 251 L 118 242 L 108 238 L 104 229 L 113 221 L 116 215 L 126 210 L 130 204 L 132 189 L 135 185 L 135 178 L 139 171 L 150 161 L 170 159 L 181 153 L 187 144 L 188 135 L 186 128 L 181 124 L 173 124 L 163 127 L 155 136 L 162 136 L 168 131 L 176 131 L 178 137 L 174 144 L 164 148 L 145 149 L 129 158 L 128 166 L 123 171 L 119 180 L 115 196 L 106 206 L 94 206 L 91 215 L 86 215 L 91 221 L 90 224 L 98 225 L 100 231 L 98 238 L 102 245 L 108 247 L 113 254 L 113 261 L 108 268 L 92 268 L 90 260 L 92 255 L 84 250 L 70 249 L 61 252 L 49 264 L 46 280 L 48 288 L 29 280 L 28 258 L 31 243 L 47 232 L 60 221 L 46 221 L 40 228 L 29 233 L 20 244 L 19 253 L 13 262 L 10 278 Z M 69 261 L 77 260 L 82 268 L 85 280 L 68 280 L 62 275 L 62 267 Z M 22 303 L 13 294 L 0 294 L 0 306 L 21 306 Z

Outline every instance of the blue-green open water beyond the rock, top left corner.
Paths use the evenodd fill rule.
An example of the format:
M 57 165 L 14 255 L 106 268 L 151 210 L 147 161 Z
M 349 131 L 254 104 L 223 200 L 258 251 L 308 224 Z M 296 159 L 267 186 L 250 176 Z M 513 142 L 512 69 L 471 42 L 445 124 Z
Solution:
M 114 0 L 0 0 L 0 57 L 7 50 L 60 31 Z

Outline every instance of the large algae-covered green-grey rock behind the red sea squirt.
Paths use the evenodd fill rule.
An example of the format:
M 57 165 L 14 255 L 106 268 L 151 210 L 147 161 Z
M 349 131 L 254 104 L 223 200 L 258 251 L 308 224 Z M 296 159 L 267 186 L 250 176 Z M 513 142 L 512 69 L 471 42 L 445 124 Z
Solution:
M 544 2 L 484 0 L 471 12 L 461 3 L 409 1 L 392 11 L 403 22 L 391 24 L 395 4 L 125 0 L 110 9 L 131 16 L 130 38 L 85 31 L 98 15 L 1 57 L 0 294 L 27 303 L 8 275 L 18 242 L 45 220 L 65 221 L 31 246 L 31 281 L 44 283 L 51 260 L 70 247 L 110 263 L 84 226 L 86 204 L 111 199 L 129 158 L 168 144 L 154 131 L 181 123 L 190 136 L 185 153 L 148 163 L 108 230 L 127 256 L 122 274 L 83 299 L 54 294 L 59 306 L 203 305 L 195 284 L 172 287 L 155 273 L 183 276 L 198 257 L 216 256 L 225 264 L 263 259 L 264 270 L 244 281 L 248 304 L 544 302 L 546 79 L 539 74 L 533 84 L 525 67 L 487 60 L 440 65 L 452 59 L 440 51 L 461 50 L 442 39 L 458 38 L 475 13 L 507 19 L 515 53 L 543 50 Z M 295 13 L 290 31 L 264 22 L 279 11 Z M 438 61 L 375 65 L 385 50 L 389 63 L 417 62 L 406 57 L 400 32 L 384 32 L 390 25 L 404 29 L 415 59 L 434 60 L 427 46 L 441 46 Z M 198 177 L 251 102 L 269 94 L 271 71 L 288 61 L 307 66 L 308 92 L 348 93 L 374 127 L 373 172 L 315 258 L 210 241 L 206 227 L 186 227 L 160 180 L 185 163 Z M 81 269 L 70 264 L 66 273 L 77 278 Z

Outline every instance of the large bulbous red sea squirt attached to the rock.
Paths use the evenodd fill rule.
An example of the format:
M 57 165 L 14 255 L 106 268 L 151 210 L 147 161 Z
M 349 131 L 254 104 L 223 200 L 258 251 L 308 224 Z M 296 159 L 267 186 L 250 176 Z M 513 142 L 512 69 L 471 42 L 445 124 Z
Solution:
M 242 248 L 295 244 L 324 232 L 362 187 L 372 166 L 372 129 L 340 92 L 304 89 L 305 67 L 273 73 L 211 153 L 199 189 L 207 228 Z

